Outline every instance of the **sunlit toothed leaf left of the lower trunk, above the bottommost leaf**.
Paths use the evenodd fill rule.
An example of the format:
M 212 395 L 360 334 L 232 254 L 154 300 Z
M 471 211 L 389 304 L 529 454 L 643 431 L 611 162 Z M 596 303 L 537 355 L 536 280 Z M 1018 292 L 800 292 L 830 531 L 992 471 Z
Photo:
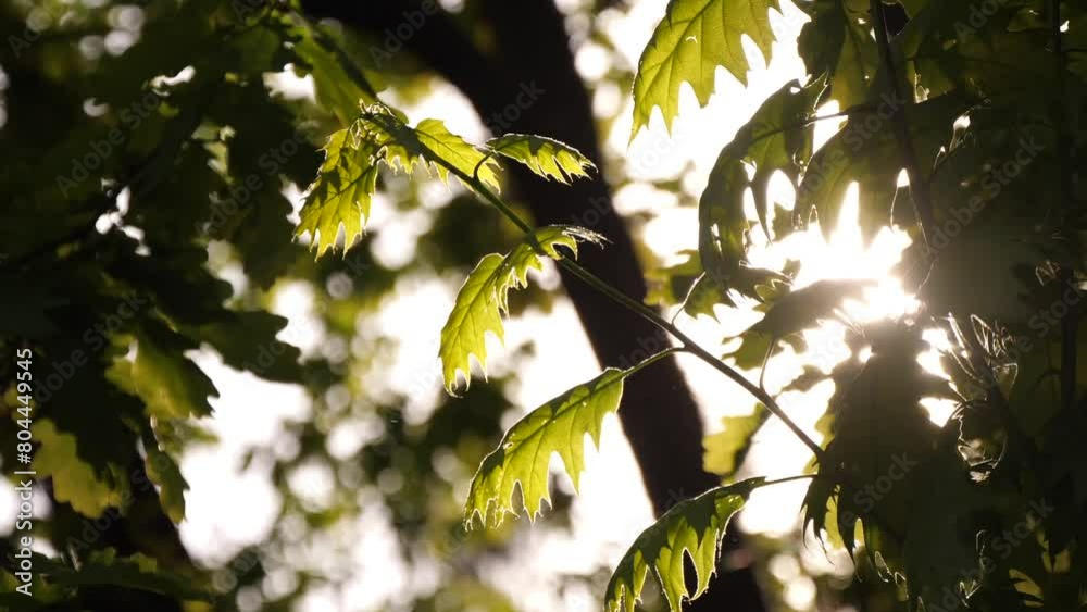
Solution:
M 619 409 L 623 382 L 629 374 L 627 370 L 609 367 L 592 380 L 529 412 L 511 427 L 472 479 L 464 507 L 465 524 L 472 526 L 478 514 L 487 527 L 501 525 L 507 513 L 517 513 L 513 505 L 517 486 L 528 520 L 534 521 L 542 502 L 551 501 L 548 466 L 555 452 L 576 490 L 585 470 L 585 435 L 589 435 L 594 446 L 599 446 L 603 417 Z

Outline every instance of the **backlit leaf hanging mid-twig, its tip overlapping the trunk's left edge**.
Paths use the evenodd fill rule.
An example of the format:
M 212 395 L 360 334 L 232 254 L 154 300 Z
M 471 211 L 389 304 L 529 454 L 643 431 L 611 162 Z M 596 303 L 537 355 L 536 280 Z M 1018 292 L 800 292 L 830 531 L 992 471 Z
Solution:
M 502 313 L 509 310 L 510 289 L 526 287 L 529 270 L 540 270 L 544 257 L 561 259 L 559 247 L 576 255 L 578 240 L 599 243 L 602 239 L 580 227 L 552 225 L 537 229 L 530 240 L 526 239 L 504 257 L 491 253 L 479 260 L 457 293 L 453 310 L 441 328 L 438 357 L 446 388 L 452 392 L 458 371 L 464 373 L 465 386 L 471 385 L 472 355 L 486 373 L 487 333 L 503 339 Z

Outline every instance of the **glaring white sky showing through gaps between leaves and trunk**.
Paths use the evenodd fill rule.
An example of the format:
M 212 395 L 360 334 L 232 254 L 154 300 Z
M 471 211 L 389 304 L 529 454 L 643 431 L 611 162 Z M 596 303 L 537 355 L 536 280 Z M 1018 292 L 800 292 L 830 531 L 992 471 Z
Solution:
M 567 5 L 578 0 L 563 0 Z M 628 92 L 614 88 L 601 88 L 594 101 L 601 111 L 623 107 L 621 120 L 616 122 L 605 142 L 616 155 L 624 155 L 626 170 L 639 179 L 671 178 L 685 173 L 682 184 L 685 190 L 698 195 L 705 185 L 707 176 L 717 152 L 733 134 L 755 111 L 770 93 L 792 78 L 803 78 L 803 66 L 795 50 L 795 37 L 805 17 L 789 2 L 783 2 L 784 17 L 772 14 L 775 33 L 784 43 L 774 46 L 773 61 L 764 70 L 762 59 L 749 45 L 752 72 L 745 89 L 723 68 L 717 71 L 716 95 L 710 104 L 699 109 L 690 91 L 679 120 L 670 136 L 660 117 L 630 146 L 627 139 L 630 129 L 632 104 Z M 601 15 L 597 26 L 608 33 L 622 51 L 626 62 L 636 65 L 639 54 L 652 28 L 663 15 L 665 0 L 632 2 L 628 12 L 609 11 Z M 584 24 L 583 24 L 584 25 Z M 746 41 L 750 43 L 750 41 Z M 578 70 L 589 79 L 598 77 L 610 61 L 607 52 L 592 42 L 584 43 L 578 50 Z M 285 84 L 291 91 L 304 91 L 307 85 Z M 454 133 L 479 140 L 484 137 L 483 126 L 473 115 L 467 103 L 452 88 L 438 87 L 436 92 L 416 108 L 407 109 L 413 121 L 437 117 L 446 121 Z M 833 112 L 834 109 L 824 109 Z M 828 122 L 824 122 L 826 124 Z M 825 140 L 834 129 L 833 125 L 820 124 L 816 145 Z M 692 165 L 688 165 L 692 164 Z M 779 177 L 778 177 L 779 178 Z M 784 182 L 772 183 L 775 201 L 791 204 L 791 188 Z M 443 188 L 442 188 L 443 189 Z M 442 192 L 435 195 L 441 198 Z M 297 196 L 297 193 L 295 193 Z M 853 196 L 855 200 L 855 195 Z M 380 227 L 380 239 L 375 245 L 377 257 L 389 263 L 412 255 L 408 248 L 415 236 L 425 229 L 418 217 L 395 216 L 390 207 L 383 205 L 380 198 L 374 203 L 372 226 Z M 657 216 L 645 227 L 644 238 L 661 257 L 673 258 L 678 251 L 696 248 L 697 211 L 678 208 L 674 196 L 660 192 L 647 184 L 627 187 L 616 195 L 616 207 L 626 213 L 649 209 Z M 753 216 L 753 213 L 752 213 Z M 759 237 L 761 234 L 755 233 Z M 872 319 L 901 312 L 909 300 L 902 295 L 896 280 L 887 271 L 894 265 L 908 240 L 900 234 L 885 232 L 873 245 L 865 249 L 855 226 L 855 202 L 845 208 L 844 218 L 830 243 L 826 243 L 817 229 L 790 237 L 769 248 L 759 249 L 757 263 L 780 265 L 788 254 L 803 253 L 803 268 L 799 285 L 807 285 L 823 278 L 865 277 L 878 280 L 878 286 L 867 296 L 864 303 L 849 304 L 847 310 L 858 319 Z M 227 277 L 237 282 L 240 273 L 228 273 Z M 537 275 L 535 282 L 547 287 L 557 287 L 558 277 L 548 268 Z M 395 298 L 396 308 L 386 308 L 374 325 L 380 329 L 396 329 L 402 340 L 397 362 L 388 375 L 391 384 L 401 389 L 417 389 L 408 407 L 408 419 L 425 415 L 440 391 L 437 362 L 437 338 L 446 313 L 452 305 L 453 287 L 437 283 L 404 283 Z M 279 291 L 276 310 L 287 315 L 291 323 L 280 336 L 303 347 L 307 352 L 328 350 L 322 345 L 322 329 L 312 314 L 315 299 L 312 290 L 295 286 Z M 729 313 L 726 324 L 717 324 L 709 319 L 694 321 L 686 316 L 678 324 L 710 349 L 717 349 L 722 338 L 736 334 L 758 320 L 750 312 Z M 815 346 L 827 346 L 835 335 L 840 336 L 840 326 L 828 324 L 824 329 L 811 334 L 809 340 Z M 550 314 L 528 313 L 510 321 L 507 327 L 508 346 L 516 347 L 532 339 L 536 344 L 536 355 L 524 367 L 518 367 L 522 384 L 515 399 L 530 409 L 554 397 L 566 388 L 583 383 L 599 372 L 591 358 L 591 351 L 573 312 L 564 300 Z M 508 351 L 495 342 L 490 347 L 489 362 L 493 371 L 501 371 L 503 357 Z M 845 355 L 837 355 L 837 359 Z M 833 355 L 832 355 L 833 358 Z M 283 442 L 279 434 L 283 423 L 289 420 L 304 420 L 310 416 L 309 402 L 301 389 L 273 385 L 258 378 L 240 374 L 214 357 L 201 354 L 200 365 L 214 379 L 222 397 L 213 401 L 215 417 L 211 428 L 222 440 L 214 447 L 188 452 L 182 467 L 190 483 L 191 490 L 186 497 L 188 512 L 182 524 L 182 537 L 193 554 L 209 563 L 228 559 L 246 545 L 260 542 L 272 528 L 278 507 L 277 495 L 268 480 L 268 465 L 254 464 L 248 471 L 241 470 L 242 452 L 251 446 L 271 446 L 277 453 L 289 457 L 297 449 Z M 746 397 L 735 385 L 723 378 L 704 364 L 682 358 L 692 387 L 702 400 L 707 426 L 710 433 L 720 429 L 720 417 L 726 414 L 745 414 L 753 409 L 753 400 Z M 767 387 L 773 391 L 780 388 L 799 372 L 800 359 L 782 359 L 774 363 L 769 373 Z M 823 359 L 821 365 L 829 370 L 834 359 Z M 751 374 L 752 379 L 758 376 Z M 822 413 L 833 385 L 824 384 L 807 396 L 796 394 L 782 398 L 787 412 L 812 437 L 819 439 L 814 423 Z M 662 415 L 662 417 L 666 417 Z M 365 423 L 346 426 L 332 437 L 335 452 L 345 457 L 354 453 L 367 435 L 372 433 Z M 496 440 L 497 441 L 497 440 Z M 662 444 L 667 444 L 663 440 Z M 755 473 L 769 476 L 798 474 L 810 460 L 810 452 L 789 435 L 783 425 L 772 422 L 760 435 L 750 454 L 749 465 Z M 588 572 L 598 564 L 613 567 L 630 542 L 651 522 L 650 507 L 638 477 L 636 466 L 619 422 L 608 417 L 604 423 L 600 452 L 590 452 L 587 472 L 583 476 L 582 496 L 573 508 L 573 530 L 569 536 L 550 534 L 542 529 L 526 529 L 523 534 L 525 551 L 520 559 L 507 565 L 488 569 L 488 577 L 503 590 L 518 591 L 515 598 L 527 612 L 570 610 L 598 610 L 599 592 L 567 592 L 565 599 L 557 595 L 553 576 L 555 572 Z M 554 459 L 553 469 L 558 469 Z M 327 495 L 332 486 L 330 475 L 314 469 L 307 475 L 305 491 L 315 500 Z M 569 488 L 569 482 L 562 479 Z M 467 490 L 467 479 L 462 483 L 462 494 Z M 301 486 L 301 485 L 300 485 Z M 741 515 L 741 526 L 748 530 L 784 534 L 792 530 L 798 522 L 800 498 L 805 484 L 785 485 L 758 491 L 747 511 Z M 15 500 L 10 487 L 0 486 L 0 525 L 12 524 Z M 619 512 L 615 512 L 619 509 Z M 10 515 L 9 515 L 10 514 Z M 397 559 L 396 540 L 390 532 L 387 516 L 379 510 L 367 511 L 358 525 L 345 528 L 343 533 L 329 534 L 328 546 L 345 546 L 352 549 L 355 565 L 334 569 L 337 573 L 348 572 L 353 576 L 351 588 L 345 592 L 318 591 L 304 610 L 307 611 L 361 611 L 379 605 L 386 597 L 397 597 L 405 588 L 425 588 L 433 584 L 436 574 L 405 575 L 405 569 L 390 560 Z M 547 520 L 545 515 L 544 521 Z M 339 542 L 337 545 L 336 542 Z M 817 545 L 811 546 L 804 562 L 813 567 L 827 567 L 825 557 Z M 320 554 L 299 559 L 320 566 Z M 791 579 L 786 598 L 797 609 L 809 609 L 813 603 L 814 585 L 799 576 L 791 560 L 776 563 L 773 571 L 786 580 Z M 848 571 L 848 562 L 836 560 L 837 571 Z M 436 565 L 434 572 L 438 572 Z M 330 569 L 329 571 L 333 571 Z M 289 585 L 276 585 L 271 579 L 266 588 L 275 591 Z M 526 595 L 527 594 L 527 595 Z

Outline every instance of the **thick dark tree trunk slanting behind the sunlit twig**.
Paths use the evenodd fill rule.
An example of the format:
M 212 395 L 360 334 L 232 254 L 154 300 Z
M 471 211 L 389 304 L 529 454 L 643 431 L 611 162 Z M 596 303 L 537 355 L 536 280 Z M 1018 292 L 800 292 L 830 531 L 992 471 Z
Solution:
M 314 17 L 335 18 L 380 38 L 386 29 L 395 30 L 407 22 L 404 11 L 418 10 L 408 0 L 303 0 L 302 4 Z M 492 130 L 553 137 L 599 165 L 601 152 L 591 103 L 574 68 L 563 16 L 553 1 L 482 0 L 478 8 L 495 36 L 495 49 L 486 55 L 442 13 L 427 17 L 407 48 L 457 86 Z M 511 105 L 516 111 L 507 113 Z M 630 234 L 612 208 L 603 177 L 577 180 L 572 186 L 541 180 L 527 171 L 514 171 L 513 177 L 516 196 L 537 224 L 576 223 L 607 236 L 611 240 L 608 247 L 583 249 L 580 263 L 626 295 L 639 300 L 645 297 L 646 284 Z M 576 278 L 564 275 L 563 283 L 602 364 L 633 363 L 645 358 L 647 350 L 663 348 L 664 337 L 652 324 Z M 619 415 L 657 514 L 716 485 L 702 469 L 702 423 L 674 360 L 662 361 L 632 378 Z M 742 547 L 735 528 L 729 530 L 725 547 L 726 555 Z M 709 594 L 691 609 L 724 610 L 726 605 L 737 612 L 765 610 L 751 567 L 721 573 Z

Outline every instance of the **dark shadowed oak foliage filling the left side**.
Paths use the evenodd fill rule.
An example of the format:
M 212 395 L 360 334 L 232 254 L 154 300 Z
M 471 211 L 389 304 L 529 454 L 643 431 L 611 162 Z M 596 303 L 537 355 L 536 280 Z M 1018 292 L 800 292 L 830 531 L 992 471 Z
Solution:
M 23 369 L 8 359 L 0 462 L 5 473 L 37 473 L 36 544 L 60 551 L 35 558 L 28 598 L 14 591 L 11 557 L 25 534 L 4 541 L 0 608 L 179 610 L 214 599 L 216 609 L 233 609 L 233 597 L 214 596 L 237 590 L 224 591 L 229 583 L 190 561 L 175 526 L 189 488 L 179 459 L 213 440 L 201 422 L 220 394 L 204 360 L 314 395 L 342 375 L 334 372 L 342 363 L 321 354 L 301 362 L 285 340 L 297 335 L 270 304 L 278 279 L 323 287 L 345 270 L 358 275 L 348 262 L 314 264 L 292 242 L 285 189 L 320 176 L 325 135 L 354 122 L 361 103 L 377 103 L 368 70 L 295 9 L 214 0 L 0 5 L 0 347 L 32 351 L 35 390 L 26 421 L 17 410 Z M 132 46 L 104 52 L 107 37 Z M 316 104 L 276 92 L 271 75 L 284 70 L 312 78 Z M 565 160 L 562 167 L 573 172 Z M 345 211 L 342 223 L 352 220 L 361 222 Z M 457 238 L 445 242 L 467 248 Z M 230 277 L 242 280 L 232 286 L 222 278 L 234 266 L 242 274 Z M 372 300 L 395 278 L 373 261 L 357 267 Z M 342 332 L 333 324 L 350 315 L 341 307 L 328 319 Z M 491 435 L 505 402 L 498 396 L 483 405 L 478 433 L 465 428 L 466 438 Z M 248 408 L 253 419 L 266 414 L 255 402 Z M 15 455 L 21 421 L 33 432 L 32 465 Z M 303 440 L 300 462 L 314 459 L 305 440 L 322 440 L 318 430 L 292 427 Z M 420 437 L 429 453 L 461 442 Z M 468 461 L 482 454 L 466 452 Z M 382 466 L 370 466 L 376 479 Z M 286 485 L 283 494 L 283 515 L 302 515 L 313 529 L 358 513 L 353 496 L 318 512 L 300 510 Z M 267 557 L 240 553 L 228 571 L 236 588 L 264 575 L 254 558 L 295 570 Z M 278 604 L 289 608 L 290 597 Z

